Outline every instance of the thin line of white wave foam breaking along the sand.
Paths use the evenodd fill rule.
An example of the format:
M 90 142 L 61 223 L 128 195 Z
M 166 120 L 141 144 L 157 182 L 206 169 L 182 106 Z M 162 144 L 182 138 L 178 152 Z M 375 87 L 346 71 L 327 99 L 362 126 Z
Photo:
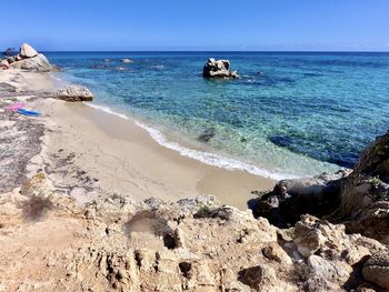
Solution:
M 88 107 L 91 107 L 93 109 L 103 111 L 106 113 L 110 113 L 113 115 L 117 115 L 121 119 L 124 120 L 131 120 L 134 122 L 134 124 L 137 124 L 138 127 L 142 128 L 143 130 L 146 130 L 150 137 L 161 147 L 164 147 L 167 149 L 177 151 L 180 155 L 182 157 L 187 157 L 187 158 L 191 158 L 191 159 L 196 159 L 202 163 L 212 165 L 212 167 L 217 167 L 217 168 L 222 168 L 222 169 L 227 169 L 227 170 L 241 170 L 241 171 L 247 171 L 251 174 L 255 175 L 260 175 L 263 178 L 269 178 L 272 180 L 282 180 L 282 179 L 295 179 L 295 178 L 299 178 L 300 175 L 295 175 L 291 173 L 277 173 L 277 172 L 271 172 L 269 170 L 266 169 L 261 169 L 258 168 L 256 165 L 236 160 L 236 159 L 231 159 L 231 158 L 226 158 L 216 153 L 211 153 L 211 152 L 206 152 L 206 151 L 199 151 L 199 150 L 194 150 L 194 149 L 189 149 L 186 148 L 177 142 L 173 141 L 169 141 L 161 131 L 147 125 L 138 120 L 134 120 L 132 118 L 129 118 L 128 115 L 117 112 L 114 110 L 112 110 L 109 107 L 106 105 L 100 105 L 100 104 L 94 104 L 94 103 L 84 103 Z

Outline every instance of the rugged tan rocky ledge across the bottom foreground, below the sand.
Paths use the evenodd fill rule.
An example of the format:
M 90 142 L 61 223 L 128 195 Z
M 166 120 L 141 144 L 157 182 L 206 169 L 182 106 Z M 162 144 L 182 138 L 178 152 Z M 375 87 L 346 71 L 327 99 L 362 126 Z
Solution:
M 134 203 L 111 195 L 79 205 L 39 173 L 20 192 L 0 197 L 0 222 L 3 291 L 320 292 L 386 285 L 370 274 L 387 264 L 375 260 L 388 252 L 379 242 L 313 217 L 279 230 L 210 197 Z

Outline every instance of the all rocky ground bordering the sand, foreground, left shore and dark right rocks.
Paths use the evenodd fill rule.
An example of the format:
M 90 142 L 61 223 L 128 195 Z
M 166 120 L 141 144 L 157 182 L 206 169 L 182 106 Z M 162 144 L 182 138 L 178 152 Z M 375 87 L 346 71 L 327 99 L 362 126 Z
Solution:
M 92 99 L 74 87 L 18 91 L 0 83 L 0 108 Z M 253 217 L 212 197 L 80 202 L 98 178 L 63 149 L 48 163 L 49 117 L 0 121 L 0 291 L 389 290 L 389 133 L 353 171 L 259 192 Z

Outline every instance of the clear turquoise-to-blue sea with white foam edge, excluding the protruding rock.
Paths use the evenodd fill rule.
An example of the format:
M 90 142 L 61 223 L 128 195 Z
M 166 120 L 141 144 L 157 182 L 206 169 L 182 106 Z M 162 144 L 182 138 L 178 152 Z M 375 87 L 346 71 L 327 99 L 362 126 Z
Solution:
M 352 167 L 360 151 L 388 129 L 389 53 L 47 56 L 64 68 L 61 78 L 96 93 L 93 104 L 142 121 L 161 144 L 276 179 Z M 209 57 L 229 59 L 241 79 L 203 79 Z M 133 63 L 123 64 L 121 58 Z M 215 137 L 198 141 L 205 130 Z

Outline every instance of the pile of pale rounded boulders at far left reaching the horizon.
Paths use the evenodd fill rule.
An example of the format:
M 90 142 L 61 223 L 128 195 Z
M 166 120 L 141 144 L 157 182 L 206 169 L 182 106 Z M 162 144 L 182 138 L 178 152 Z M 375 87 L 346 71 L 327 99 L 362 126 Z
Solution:
M 48 72 L 58 71 L 57 67 L 50 64 L 49 60 L 42 53 L 38 53 L 31 46 L 23 43 L 17 56 L 9 56 L 1 60 L 7 62 L 10 68 L 17 68 L 28 71 Z

